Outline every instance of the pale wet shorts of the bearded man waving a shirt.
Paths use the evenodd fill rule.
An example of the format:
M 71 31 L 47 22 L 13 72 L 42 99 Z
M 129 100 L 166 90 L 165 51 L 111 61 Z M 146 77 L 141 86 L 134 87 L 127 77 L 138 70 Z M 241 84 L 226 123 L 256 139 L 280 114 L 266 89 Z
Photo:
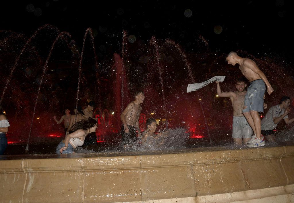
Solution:
M 252 137 L 252 128 L 245 117 L 233 116 L 233 138 L 250 138 Z

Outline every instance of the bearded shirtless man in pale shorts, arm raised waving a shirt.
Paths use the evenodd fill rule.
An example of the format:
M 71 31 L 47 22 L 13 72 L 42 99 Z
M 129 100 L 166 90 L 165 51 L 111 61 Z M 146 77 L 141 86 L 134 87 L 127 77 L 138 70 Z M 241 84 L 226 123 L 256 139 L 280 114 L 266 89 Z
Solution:
M 237 91 L 222 92 L 219 81 L 216 81 L 216 92 L 220 97 L 229 97 L 233 106 L 233 132 L 232 137 L 235 144 L 245 144 L 252 138 L 252 129 L 243 115 L 246 78 L 242 77 L 237 80 L 235 87 Z M 242 142 L 243 141 L 243 142 Z

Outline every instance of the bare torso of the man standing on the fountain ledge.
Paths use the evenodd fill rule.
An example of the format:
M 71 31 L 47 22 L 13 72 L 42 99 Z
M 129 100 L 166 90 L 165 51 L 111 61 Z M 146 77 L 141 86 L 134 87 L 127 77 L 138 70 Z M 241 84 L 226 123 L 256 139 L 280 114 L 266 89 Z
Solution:
M 260 76 L 256 73 L 260 69 L 256 63 L 248 58 L 244 58 L 241 65 L 239 66 L 242 74 L 251 82 L 253 80 L 261 79 Z

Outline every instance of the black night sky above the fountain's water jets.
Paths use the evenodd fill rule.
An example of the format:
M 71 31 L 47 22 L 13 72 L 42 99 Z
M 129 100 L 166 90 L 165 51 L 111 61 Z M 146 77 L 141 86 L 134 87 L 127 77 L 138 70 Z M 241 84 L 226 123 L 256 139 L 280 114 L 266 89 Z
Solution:
M 293 6 L 290 1 L 6 1 L 1 2 L 0 29 L 31 36 L 44 24 L 69 32 L 78 46 L 88 27 L 95 46 L 121 51 L 122 31 L 148 42 L 173 39 L 197 53 L 202 36 L 209 51 L 246 50 L 281 56 L 292 62 Z M 164 2 L 164 3 L 163 3 Z M 225 2 L 225 3 L 224 3 Z M 98 50 L 99 52 L 99 50 Z

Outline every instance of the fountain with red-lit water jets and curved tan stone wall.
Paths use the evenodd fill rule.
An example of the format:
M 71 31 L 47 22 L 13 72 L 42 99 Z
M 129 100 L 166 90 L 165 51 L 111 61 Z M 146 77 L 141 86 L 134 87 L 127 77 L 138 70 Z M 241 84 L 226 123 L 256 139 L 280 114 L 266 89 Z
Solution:
M 96 53 L 93 51 L 95 47 L 90 29 L 87 29 L 84 36 L 81 54 L 69 34 L 59 33 L 55 28 L 44 32 L 42 30 L 38 30 L 38 35 L 44 37 L 52 32 L 53 39 L 56 39 L 50 41 L 49 38 L 45 38 L 48 39 L 48 43 L 44 39 L 42 48 L 47 47 L 47 51 L 42 51 L 34 43 L 36 34 L 29 41 L 24 40 L 28 42 L 23 45 L 27 46 L 29 52 L 12 51 L 15 48 L 14 38 L 12 36 L 5 38 L 1 35 L 5 39 L 1 41 L 1 46 L 5 46 L 1 51 L 6 53 L 7 61 L 0 63 L 2 67 L 5 63 L 7 67 L 12 67 L 11 72 L 6 73 L 9 80 L 3 87 L 5 89 L 1 97 L 11 122 L 9 133 L 19 134 L 16 136 L 17 141 L 24 142 L 24 148 L 28 139 L 30 140 L 28 150 L 30 154 L 24 155 L 23 148 L 22 155 L 0 156 L 1 201 L 260 200 L 265 202 L 277 200 L 290 202 L 293 200 L 293 144 L 289 142 L 258 149 L 236 147 L 230 137 L 231 105 L 228 100 L 215 96 L 216 85 L 210 84 L 194 94 L 186 93 L 187 84 L 204 81 L 215 75 L 226 76 L 224 81 L 226 85 L 222 85 L 223 91 L 234 89 L 238 68 L 226 65 L 223 60 L 224 54 L 186 55 L 175 42 L 158 39 L 156 50 L 155 44 L 148 46 L 148 43 L 142 42 L 127 43 L 127 33 L 123 32 L 122 55 L 114 54 L 113 67 L 110 68 L 112 74 L 104 77 L 98 75 L 100 72 Z M 17 34 L 13 36 L 15 39 L 21 37 Z M 59 41 L 60 39 L 62 42 Z M 155 38 L 152 40 L 155 42 Z M 175 48 L 171 48 L 171 45 Z M 17 50 L 24 50 L 19 46 L 17 45 Z M 91 47 L 91 51 L 86 48 L 88 46 Z M 68 52 L 60 51 L 61 48 Z M 72 63 L 67 65 L 67 69 L 65 65 L 63 66 L 70 71 L 70 74 L 63 74 L 63 69 L 58 66 L 62 63 L 62 60 L 58 59 L 60 56 L 71 56 L 71 60 L 66 61 Z M 282 67 L 269 59 L 265 63 L 261 58 L 260 61 L 255 60 L 265 73 L 283 76 L 282 72 L 267 69 L 268 67 L 282 69 Z M 50 62 L 57 59 L 59 61 L 57 65 Z M 56 74 L 51 70 L 56 71 Z M 56 80 L 65 80 L 66 75 L 73 79 L 67 78 L 67 81 L 62 82 L 63 88 L 68 88 L 63 92 L 58 88 Z M 47 76 L 50 79 L 46 79 Z M 26 80 L 21 80 L 23 77 Z M 23 81 L 21 85 L 17 82 L 19 80 Z M 269 80 L 275 86 L 277 98 L 280 94 L 291 93 L 282 89 L 278 80 L 271 78 Z M 293 79 L 289 77 L 283 81 L 283 85 L 290 83 L 293 83 Z M 185 129 L 187 131 L 179 134 L 183 133 L 190 138 L 185 146 L 180 146 L 183 148 L 157 151 L 148 149 L 139 152 L 109 152 L 111 151 L 109 150 L 105 153 L 67 155 L 50 154 L 50 152 L 36 155 L 39 153 L 34 151 L 37 148 L 31 148 L 32 143 L 36 142 L 39 148 L 47 148 L 48 145 L 54 152 L 56 144 L 50 144 L 48 141 L 53 139 L 48 139 L 46 134 L 41 136 L 45 131 L 48 136 L 53 135 L 52 137 L 58 142 L 62 139 L 58 137 L 60 136 L 58 130 L 62 132 L 62 128 L 50 118 L 56 112 L 62 111 L 67 104 L 72 104 L 74 108 L 78 104 L 86 103 L 87 100 L 96 100 L 98 103 L 94 113 L 100 125 L 97 131 L 99 141 L 97 144 L 104 144 L 103 146 L 107 147 L 107 142 L 103 141 L 108 141 L 108 138 L 119 139 L 119 114 L 131 101 L 130 92 L 134 89 L 143 89 L 146 96 L 140 117 L 142 130 L 149 117 L 157 119 L 158 128 L 161 130 Z M 9 102 L 12 103 L 11 106 L 8 105 Z M 276 101 L 269 97 L 268 105 L 272 106 L 275 103 Z M 13 125 L 15 123 L 19 125 Z M 52 127 L 57 130 L 53 132 Z M 8 134 L 7 137 L 9 136 L 13 135 Z M 170 138 L 173 138 L 172 136 L 173 133 Z M 200 140 L 203 142 L 200 143 Z M 211 143 L 218 147 L 212 147 Z M 208 147 L 201 147 L 203 145 Z M 9 145 L 9 147 L 14 146 Z M 11 195 L 11 191 L 14 195 Z

